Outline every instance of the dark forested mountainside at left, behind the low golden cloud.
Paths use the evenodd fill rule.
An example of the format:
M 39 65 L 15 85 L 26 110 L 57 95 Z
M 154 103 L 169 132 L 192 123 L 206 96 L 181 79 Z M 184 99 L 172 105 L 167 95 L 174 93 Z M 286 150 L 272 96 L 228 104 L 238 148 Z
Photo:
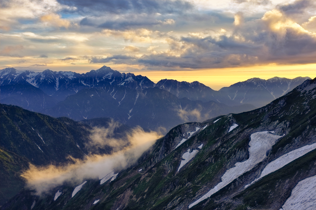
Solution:
M 16 106 L 0 104 L 0 205 L 17 194 L 25 184 L 21 170 L 28 163 L 37 166 L 69 162 L 69 156 L 82 159 L 88 153 L 109 154 L 110 146 L 91 151 L 86 147 L 93 127 L 109 126 L 109 118 L 76 122 L 66 117 L 53 118 Z M 131 128 L 118 124 L 114 135 Z

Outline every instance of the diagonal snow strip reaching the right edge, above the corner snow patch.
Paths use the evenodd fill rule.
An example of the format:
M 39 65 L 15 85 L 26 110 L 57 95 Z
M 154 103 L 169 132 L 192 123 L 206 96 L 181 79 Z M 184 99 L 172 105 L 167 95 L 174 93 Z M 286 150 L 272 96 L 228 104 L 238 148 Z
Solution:
M 286 153 L 285 155 L 282 155 L 280 158 L 277 158 L 276 160 L 270 162 L 265 168 L 264 170 L 261 172 L 261 175 L 258 179 L 255 179 L 254 181 L 251 182 L 251 184 L 247 184 L 245 186 L 245 188 L 247 188 L 248 186 L 252 185 L 254 182 L 257 182 L 259 179 L 261 179 L 262 177 L 282 168 L 283 166 L 285 166 L 286 164 L 291 163 L 292 161 L 294 161 L 295 159 L 305 155 L 307 152 L 310 152 L 312 150 L 316 149 L 316 143 L 312 144 L 312 145 L 306 145 L 303 146 L 299 149 L 290 151 L 288 153 Z

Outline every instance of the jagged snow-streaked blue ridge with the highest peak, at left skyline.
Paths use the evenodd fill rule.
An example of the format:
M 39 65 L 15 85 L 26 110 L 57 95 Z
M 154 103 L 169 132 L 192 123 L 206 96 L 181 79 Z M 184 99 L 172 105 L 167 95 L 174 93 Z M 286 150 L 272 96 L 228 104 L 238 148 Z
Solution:
M 132 73 L 120 73 L 107 66 L 98 70 L 91 70 L 85 74 L 72 71 L 51 71 L 49 69 L 43 72 L 17 71 L 14 68 L 0 70 L 0 86 L 18 83 L 31 84 L 40 88 L 58 101 L 76 94 L 83 88 L 103 87 L 105 85 L 122 85 L 131 89 L 154 87 L 154 82 L 147 77 L 135 76 Z

